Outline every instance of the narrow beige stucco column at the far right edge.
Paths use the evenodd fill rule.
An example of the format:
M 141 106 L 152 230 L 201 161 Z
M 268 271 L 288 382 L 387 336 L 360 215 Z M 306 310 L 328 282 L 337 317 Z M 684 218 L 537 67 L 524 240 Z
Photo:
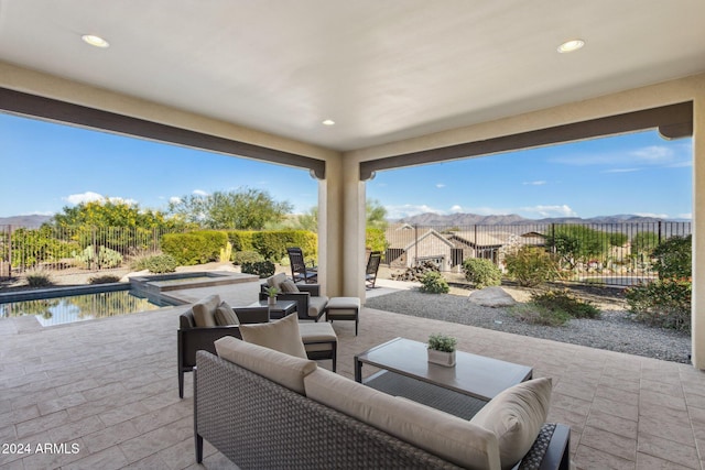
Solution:
M 705 85 L 693 102 L 693 365 L 705 370 Z

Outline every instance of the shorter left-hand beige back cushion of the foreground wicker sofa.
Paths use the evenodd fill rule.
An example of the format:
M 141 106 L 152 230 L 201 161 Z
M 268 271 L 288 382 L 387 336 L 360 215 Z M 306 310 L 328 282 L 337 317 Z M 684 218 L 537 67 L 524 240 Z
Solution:
M 315 361 L 245 342 L 232 336 L 216 340 L 215 346 L 220 358 L 301 394 L 305 393 L 304 378 L 317 368 Z

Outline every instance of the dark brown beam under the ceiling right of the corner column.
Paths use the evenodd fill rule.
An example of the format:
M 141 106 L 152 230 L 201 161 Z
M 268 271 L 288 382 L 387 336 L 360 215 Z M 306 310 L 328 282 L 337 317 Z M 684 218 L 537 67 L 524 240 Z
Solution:
M 654 128 L 658 128 L 661 135 L 666 139 L 692 135 L 693 102 L 686 101 L 494 139 L 369 160 L 360 162 L 360 179 L 370 179 L 375 172 L 382 170 L 440 163 Z

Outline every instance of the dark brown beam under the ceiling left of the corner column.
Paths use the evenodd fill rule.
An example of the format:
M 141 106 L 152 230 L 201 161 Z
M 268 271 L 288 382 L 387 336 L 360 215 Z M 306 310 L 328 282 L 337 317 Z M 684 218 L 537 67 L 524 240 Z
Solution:
M 318 178 L 324 178 L 326 173 L 326 162 L 323 160 L 74 105 L 53 98 L 30 95 L 8 88 L 0 88 L 0 109 L 83 128 L 115 132 L 122 135 L 132 135 L 151 141 L 307 168 Z

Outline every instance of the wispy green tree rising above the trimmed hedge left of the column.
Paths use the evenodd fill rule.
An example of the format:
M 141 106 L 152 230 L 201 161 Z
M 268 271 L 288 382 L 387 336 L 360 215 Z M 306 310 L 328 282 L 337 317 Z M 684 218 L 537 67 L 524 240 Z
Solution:
M 169 212 L 207 229 L 262 230 L 291 212 L 288 201 L 276 201 L 265 190 L 245 188 L 189 195 L 169 205 Z

